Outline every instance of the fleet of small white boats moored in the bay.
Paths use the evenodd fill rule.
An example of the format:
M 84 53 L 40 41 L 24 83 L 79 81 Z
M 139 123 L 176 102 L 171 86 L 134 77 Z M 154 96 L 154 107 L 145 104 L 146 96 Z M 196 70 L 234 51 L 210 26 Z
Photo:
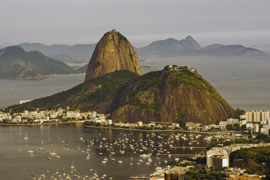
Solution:
M 85 137 L 83 137 L 83 135 Z M 118 137 L 116 138 L 103 137 L 101 133 L 95 137 L 86 137 L 87 135 L 83 135 L 81 134 L 77 138 L 76 142 L 72 142 L 72 144 L 76 143 L 76 146 L 69 145 L 67 143 L 67 139 L 62 138 L 61 140 L 59 135 L 57 135 L 57 138 L 54 138 L 56 141 L 58 141 L 58 144 L 61 144 L 61 151 L 75 151 L 79 152 L 76 154 L 83 155 L 85 157 L 85 161 L 76 163 L 80 165 L 91 163 L 91 157 L 94 156 L 95 158 L 100 158 L 99 163 L 102 164 L 102 167 L 104 168 L 110 168 L 112 167 L 111 165 L 116 164 L 127 164 L 130 166 L 130 168 L 134 168 L 143 164 L 146 166 L 152 166 L 153 168 L 168 166 L 179 162 L 183 153 L 187 155 L 188 153 L 193 153 L 192 155 L 197 154 L 198 151 L 192 151 L 192 149 L 199 147 L 201 142 L 206 141 L 206 139 L 200 137 L 200 134 L 187 135 L 184 133 L 175 132 L 152 132 L 147 133 L 145 136 L 140 134 L 138 137 L 134 137 L 133 132 L 123 132 L 119 133 Z M 41 139 L 41 143 L 38 149 L 44 154 L 46 154 L 47 151 L 44 159 L 55 160 L 62 158 L 62 155 L 58 152 L 58 147 L 54 148 L 53 146 L 52 141 L 54 138 L 49 136 L 47 143 Z M 27 136 L 27 138 L 24 138 L 24 140 L 29 142 L 31 138 L 30 136 Z M 28 153 L 33 156 L 33 148 L 28 147 L 28 145 L 25 147 L 28 148 Z M 188 150 L 186 149 L 187 147 Z M 21 153 L 23 150 L 19 148 L 19 152 Z M 127 160 L 128 158 L 129 160 Z M 112 179 L 112 176 L 98 173 L 97 168 L 94 167 L 96 163 L 98 163 L 98 161 L 91 163 L 91 166 L 88 168 L 88 172 L 83 171 L 81 173 L 79 166 L 75 168 L 75 163 L 72 161 L 70 164 L 63 164 L 63 168 L 60 171 L 56 168 L 55 170 L 49 170 L 46 168 L 45 170 L 42 170 L 42 173 L 39 173 L 38 175 L 31 173 L 31 176 L 33 176 L 32 179 L 53 180 Z M 64 166 L 68 168 L 64 168 Z

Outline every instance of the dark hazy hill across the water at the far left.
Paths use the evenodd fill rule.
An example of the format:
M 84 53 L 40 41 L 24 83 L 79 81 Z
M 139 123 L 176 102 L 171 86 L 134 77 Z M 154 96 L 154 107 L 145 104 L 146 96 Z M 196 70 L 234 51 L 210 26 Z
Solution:
M 0 78 L 42 79 L 44 75 L 79 73 L 65 63 L 38 51 L 26 52 L 20 46 L 0 50 Z

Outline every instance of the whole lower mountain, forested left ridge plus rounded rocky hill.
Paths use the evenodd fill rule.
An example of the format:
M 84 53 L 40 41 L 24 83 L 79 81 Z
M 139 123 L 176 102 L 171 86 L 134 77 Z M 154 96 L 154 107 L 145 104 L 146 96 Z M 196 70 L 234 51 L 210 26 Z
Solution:
M 57 107 L 110 113 L 113 121 L 216 123 L 234 109 L 191 67 L 166 66 L 143 75 L 117 70 L 69 90 L 5 108 L 12 112 Z

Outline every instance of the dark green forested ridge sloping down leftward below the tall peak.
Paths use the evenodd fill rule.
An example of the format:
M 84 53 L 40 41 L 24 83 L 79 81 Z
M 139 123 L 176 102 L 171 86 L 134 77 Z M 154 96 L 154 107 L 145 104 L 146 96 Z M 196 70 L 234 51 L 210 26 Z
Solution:
M 138 77 L 136 73 L 128 70 L 114 71 L 82 82 L 66 91 L 34 99 L 23 104 L 11 105 L 4 110 L 9 111 L 11 109 L 12 112 L 22 112 L 25 109 L 54 109 L 59 106 L 64 108 L 70 106 L 71 110 L 77 109 L 80 106 L 83 106 L 84 110 L 98 110 L 96 105 L 108 100 L 111 100 L 109 109 L 114 109 L 120 98 L 119 93 L 123 85 L 136 77 Z

